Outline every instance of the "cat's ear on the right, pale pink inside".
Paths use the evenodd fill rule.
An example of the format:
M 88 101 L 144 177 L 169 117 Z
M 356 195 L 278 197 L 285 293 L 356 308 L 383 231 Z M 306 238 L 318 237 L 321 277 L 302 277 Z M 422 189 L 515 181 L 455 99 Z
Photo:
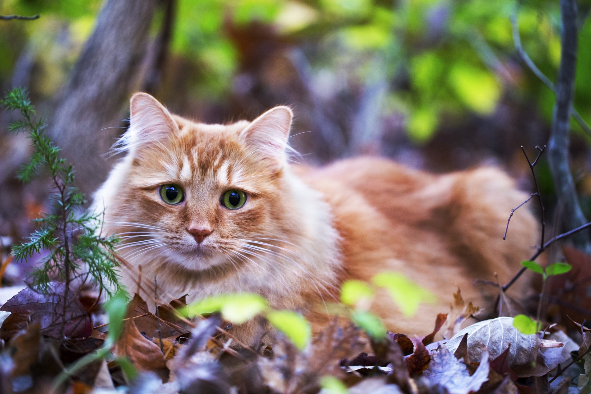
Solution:
M 263 113 L 241 132 L 253 154 L 266 161 L 274 170 L 279 170 L 285 164 L 292 119 L 293 112 L 289 107 L 278 106 Z

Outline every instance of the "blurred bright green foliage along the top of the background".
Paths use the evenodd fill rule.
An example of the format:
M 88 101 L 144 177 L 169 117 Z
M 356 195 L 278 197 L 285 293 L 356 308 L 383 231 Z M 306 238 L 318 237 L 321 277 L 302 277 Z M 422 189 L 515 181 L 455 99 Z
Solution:
M 2 14 L 37 14 L 33 23 L 4 25 L 0 32 L 0 79 L 7 79 L 28 40 L 44 58 L 44 94 L 63 82 L 63 69 L 79 53 L 99 0 L 6 0 Z M 515 0 L 179 0 L 171 44 L 175 56 L 195 64 L 199 77 L 186 76 L 194 97 L 222 101 L 232 89 L 241 63 L 228 24 L 272 25 L 277 37 L 313 46 L 313 69 L 328 68 L 362 83 L 375 73 L 375 57 L 385 80 L 408 76 L 408 86 L 389 89 L 382 112 L 403 113 L 412 141 L 429 141 L 442 126 L 466 115 L 491 116 L 509 95 L 533 102 L 550 122 L 554 95 L 515 55 L 510 16 Z M 161 18 L 160 18 L 161 19 Z M 158 22 L 156 23 L 156 25 Z M 558 2 L 525 1 L 519 10 L 525 50 L 554 80 L 560 61 Z M 68 33 L 66 49 L 55 38 Z M 154 28 L 154 34 L 157 26 Z M 591 24 L 580 30 L 575 106 L 591 119 Z M 59 42 L 59 40 L 58 40 Z M 62 43 L 63 44 L 63 43 Z M 56 66 L 61 64 L 63 67 Z M 53 68 L 52 68 L 53 67 Z M 574 129 L 579 126 L 574 125 Z

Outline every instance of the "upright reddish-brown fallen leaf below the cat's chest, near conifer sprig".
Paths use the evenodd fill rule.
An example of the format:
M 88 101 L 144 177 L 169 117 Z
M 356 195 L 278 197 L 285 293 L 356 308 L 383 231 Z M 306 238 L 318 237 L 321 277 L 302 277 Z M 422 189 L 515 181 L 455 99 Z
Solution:
M 141 298 L 136 294 L 128 306 L 127 317 L 136 313 Z M 126 356 L 139 370 L 154 371 L 166 368 L 166 360 L 160 347 L 143 336 L 135 325 L 134 319 L 123 322 L 121 338 L 115 344 L 117 356 Z

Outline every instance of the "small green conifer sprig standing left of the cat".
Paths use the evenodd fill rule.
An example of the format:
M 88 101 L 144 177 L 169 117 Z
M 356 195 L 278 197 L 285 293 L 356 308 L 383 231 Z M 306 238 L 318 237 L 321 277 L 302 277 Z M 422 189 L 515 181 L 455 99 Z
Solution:
M 118 239 L 100 235 L 101 215 L 83 209 L 85 200 L 74 185 L 72 165 L 60 157 L 60 148 L 44 132 L 46 124 L 43 119 L 37 119 L 27 92 L 13 89 L 0 100 L 0 105 L 20 111 L 21 119 L 12 122 L 9 131 L 28 132 L 33 146 L 33 154 L 18 171 L 18 178 L 28 183 L 47 169 L 54 187 L 51 213 L 42 213 L 34 219 L 40 228 L 26 242 L 12 248 L 15 258 L 25 261 L 34 253 L 48 251 L 31 273 L 31 285 L 44 289 L 51 280 L 50 275 L 59 274 L 66 284 L 64 311 L 65 295 L 74 278 L 90 279 L 109 294 L 118 290 L 118 263 L 113 256 Z

